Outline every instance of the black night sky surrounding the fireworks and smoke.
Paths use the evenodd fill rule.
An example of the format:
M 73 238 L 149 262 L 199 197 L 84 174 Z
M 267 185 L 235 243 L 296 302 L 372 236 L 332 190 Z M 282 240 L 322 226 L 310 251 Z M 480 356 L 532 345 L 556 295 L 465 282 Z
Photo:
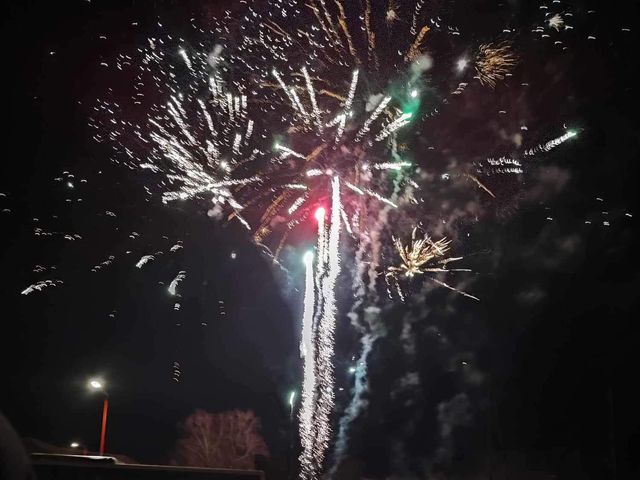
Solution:
M 3 7 L 0 408 L 23 437 L 79 439 L 97 449 L 100 400 L 85 384 L 98 374 L 111 397 L 109 451 L 164 463 L 189 413 L 241 408 L 261 418 L 272 461 L 283 464 L 286 401 L 301 378 L 302 265 L 288 273 L 272 267 L 242 229 L 213 221 L 202 204 L 163 205 L 137 172 L 109 161 L 112 152 L 88 127 L 89 106 L 113 80 L 100 62 L 143 40 L 158 17 L 202 13 L 197 2 L 181 3 Z M 464 29 L 475 22 L 478 32 L 488 29 L 496 3 L 468 3 L 478 14 Z M 538 4 L 507 3 L 515 24 L 537 14 Z M 209 14 L 221 10 L 210 4 Z M 580 135 L 545 160 L 550 167 L 517 205 L 476 229 L 468 265 L 481 302 L 425 289 L 424 301 L 382 310 L 388 332 L 372 352 L 369 408 L 351 437 L 353 468 L 369 477 L 426 468 L 446 443 L 438 404 L 463 390 L 469 418 L 453 421 L 447 444 L 460 469 L 489 455 L 521 456 L 561 478 L 613 478 L 615 457 L 618 478 L 638 473 L 640 25 L 637 6 L 595 8 L 598 41 L 573 45 L 562 68 L 539 51 L 522 55 L 553 79 L 540 93 L 544 102 L 526 106 L 537 128 L 571 119 Z M 622 25 L 631 29 L 626 36 Z M 82 238 L 44 238 L 38 227 Z M 169 254 L 178 241 L 183 248 Z M 165 253 L 134 267 L 157 251 Z M 112 265 L 91 272 L 109 255 Z M 56 269 L 39 277 L 36 265 Z M 188 276 L 175 312 L 166 286 L 179 270 Z M 39 278 L 64 284 L 20 294 Z M 433 340 L 434 329 L 446 332 L 450 347 Z M 346 319 L 336 345 L 339 412 L 359 349 Z M 409 371 L 419 385 L 401 382 Z M 482 381 L 463 388 L 465 375 Z

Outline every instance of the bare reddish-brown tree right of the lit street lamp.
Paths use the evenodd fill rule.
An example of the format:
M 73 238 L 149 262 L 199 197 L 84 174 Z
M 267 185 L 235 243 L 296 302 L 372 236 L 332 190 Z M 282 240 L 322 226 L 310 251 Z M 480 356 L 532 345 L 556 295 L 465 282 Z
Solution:
M 257 455 L 269 456 L 258 432 L 260 420 L 250 410 L 196 410 L 181 427 L 183 436 L 176 443 L 173 465 L 253 469 Z

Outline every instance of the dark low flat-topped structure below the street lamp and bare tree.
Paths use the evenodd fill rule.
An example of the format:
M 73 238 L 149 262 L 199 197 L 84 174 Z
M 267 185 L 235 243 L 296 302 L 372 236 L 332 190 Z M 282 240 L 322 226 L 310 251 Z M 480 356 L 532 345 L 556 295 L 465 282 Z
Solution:
M 257 470 L 130 465 L 113 457 L 32 454 L 38 480 L 264 480 Z

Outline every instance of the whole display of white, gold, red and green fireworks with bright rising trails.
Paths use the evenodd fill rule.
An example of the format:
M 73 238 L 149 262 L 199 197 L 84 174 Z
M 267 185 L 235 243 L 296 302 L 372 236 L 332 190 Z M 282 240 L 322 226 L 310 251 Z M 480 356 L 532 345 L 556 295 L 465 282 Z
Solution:
M 317 478 L 331 440 L 342 228 L 356 242 L 355 275 L 369 277 L 366 286 L 361 282 L 361 302 L 365 291 L 378 301 L 381 270 L 401 298 L 402 283 L 424 277 L 476 299 L 436 278 L 468 271 L 447 267 L 460 260 L 447 256 L 451 240 L 418 238 L 414 229 L 410 244 L 393 241 L 398 265 L 384 266 L 388 237 L 382 231 L 391 222 L 417 224 L 415 217 L 424 212 L 407 206 L 429 203 L 414 195 L 419 184 L 411 176 L 423 152 L 415 151 L 410 134 L 424 133 L 437 113 L 422 106 L 432 66 L 442 59 L 442 71 L 460 77 L 451 95 L 462 95 L 469 81 L 462 77 L 471 75 L 467 64 L 475 65 L 482 85 L 493 88 L 517 56 L 502 42 L 480 45 L 475 60 L 452 62 L 451 52 L 433 60 L 425 47 L 432 37 L 459 32 L 428 17 L 421 0 L 390 1 L 385 8 L 370 0 L 243 4 L 238 18 L 215 20 L 188 44 L 170 35 L 154 37 L 137 53 L 140 65 L 120 58 L 119 68 L 139 67 L 127 108 L 136 106 L 145 119 L 134 122 L 122 103 L 102 101 L 96 116 L 107 119 L 94 121 L 96 138 L 115 144 L 128 166 L 157 178 L 164 202 L 206 201 L 211 217 L 239 222 L 274 261 L 315 213 L 317 247 L 305 257 L 299 419 L 301 475 Z M 211 38 L 217 43 L 210 44 Z M 145 95 L 148 90 L 153 95 Z M 522 171 L 518 160 L 507 160 L 491 158 L 480 173 Z M 459 176 L 495 197 L 469 169 L 461 171 Z M 136 266 L 154 258 L 146 255 Z M 169 287 L 173 294 L 184 278 L 178 277 Z

